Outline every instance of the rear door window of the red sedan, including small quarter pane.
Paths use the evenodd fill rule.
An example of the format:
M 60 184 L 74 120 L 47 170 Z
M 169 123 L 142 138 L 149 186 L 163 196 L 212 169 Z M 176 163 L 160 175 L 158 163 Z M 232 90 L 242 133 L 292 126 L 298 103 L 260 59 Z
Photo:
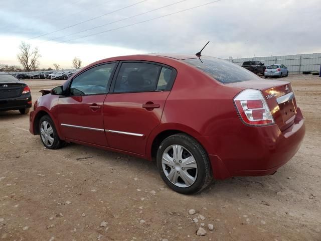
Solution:
M 116 78 L 115 93 L 166 90 L 172 69 L 151 63 L 122 63 Z

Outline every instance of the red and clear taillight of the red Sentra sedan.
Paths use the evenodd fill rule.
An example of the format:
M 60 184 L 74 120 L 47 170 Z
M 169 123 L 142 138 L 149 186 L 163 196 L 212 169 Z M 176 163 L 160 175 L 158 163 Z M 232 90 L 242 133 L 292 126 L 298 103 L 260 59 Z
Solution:
M 237 111 L 243 122 L 252 126 L 263 126 L 274 123 L 270 108 L 262 92 L 257 89 L 246 89 L 234 98 Z

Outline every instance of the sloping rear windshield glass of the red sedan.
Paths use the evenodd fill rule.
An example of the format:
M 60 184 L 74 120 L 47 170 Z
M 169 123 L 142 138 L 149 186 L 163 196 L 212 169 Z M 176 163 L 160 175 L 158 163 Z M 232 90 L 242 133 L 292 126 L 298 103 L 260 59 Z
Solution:
M 195 66 L 222 83 L 235 83 L 260 79 L 260 77 L 253 74 L 251 71 L 223 59 L 201 58 L 185 59 L 183 61 Z

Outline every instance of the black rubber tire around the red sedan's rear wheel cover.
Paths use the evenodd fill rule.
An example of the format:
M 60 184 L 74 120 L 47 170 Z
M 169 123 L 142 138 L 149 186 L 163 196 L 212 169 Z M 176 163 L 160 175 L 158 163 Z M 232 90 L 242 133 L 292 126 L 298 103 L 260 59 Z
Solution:
M 197 164 L 197 175 L 194 183 L 188 187 L 179 187 L 172 183 L 163 170 L 163 153 L 172 145 L 180 145 L 190 152 Z M 164 182 L 174 191 L 183 194 L 194 194 L 206 188 L 213 180 L 212 167 L 204 148 L 194 138 L 186 134 L 176 134 L 166 138 L 157 150 L 156 157 L 158 171 Z M 173 166 L 174 169 L 174 166 Z M 182 169 L 183 170 L 183 169 Z M 179 173 L 179 172 L 178 172 Z M 183 180 L 183 179 L 181 179 Z

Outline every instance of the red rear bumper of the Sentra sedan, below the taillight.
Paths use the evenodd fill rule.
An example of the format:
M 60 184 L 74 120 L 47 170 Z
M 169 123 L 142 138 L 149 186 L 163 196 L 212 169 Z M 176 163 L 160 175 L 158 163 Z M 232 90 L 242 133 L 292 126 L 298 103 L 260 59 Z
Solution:
M 243 125 L 238 135 L 202 138 L 212 147 L 206 149 L 214 177 L 224 179 L 273 174 L 295 155 L 304 134 L 304 119 L 297 108 L 294 124 L 283 132 L 277 125 L 256 128 Z

